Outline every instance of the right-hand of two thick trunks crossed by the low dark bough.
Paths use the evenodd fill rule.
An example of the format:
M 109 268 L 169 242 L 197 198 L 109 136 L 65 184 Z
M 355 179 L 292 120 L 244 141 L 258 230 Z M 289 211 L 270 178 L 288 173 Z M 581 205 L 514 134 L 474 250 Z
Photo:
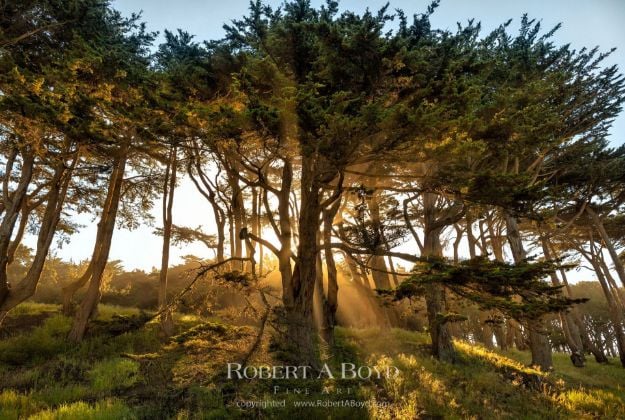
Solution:
M 518 264 L 526 257 L 521 233 L 514 217 L 506 213 L 505 218 L 508 242 L 512 250 L 514 262 Z M 549 338 L 545 335 L 542 324 L 543 321 L 540 318 L 527 322 L 529 345 L 532 353 L 532 365 L 538 366 L 544 371 L 549 371 L 553 369 L 551 344 L 549 343 Z

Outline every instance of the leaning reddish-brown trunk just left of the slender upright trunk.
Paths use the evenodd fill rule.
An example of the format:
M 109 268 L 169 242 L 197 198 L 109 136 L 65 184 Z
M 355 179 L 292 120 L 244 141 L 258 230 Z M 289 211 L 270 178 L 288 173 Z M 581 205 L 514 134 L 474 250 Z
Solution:
M 115 168 L 117 168 L 117 174 L 113 184 L 109 187 L 111 191 L 111 205 L 107 209 L 106 226 L 103 231 L 102 249 L 100 250 L 98 260 L 93 264 L 91 279 L 87 292 L 81 302 L 72 329 L 69 332 L 68 338 L 72 341 L 82 340 L 87 324 L 94 315 L 98 303 L 100 302 L 100 285 L 102 284 L 102 275 L 108 262 L 109 251 L 111 249 L 111 242 L 113 239 L 113 231 L 115 230 L 115 220 L 117 218 L 117 210 L 119 207 L 119 200 L 121 197 L 121 187 L 124 180 L 124 172 L 126 168 L 128 146 L 122 146 L 119 151 L 119 156 L 115 159 Z

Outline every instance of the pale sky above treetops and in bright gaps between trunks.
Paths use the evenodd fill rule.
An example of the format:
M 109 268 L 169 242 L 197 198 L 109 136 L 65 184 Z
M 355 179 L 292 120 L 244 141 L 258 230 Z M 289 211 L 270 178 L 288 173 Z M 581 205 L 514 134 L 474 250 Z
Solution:
M 278 6 L 281 1 L 266 0 L 267 4 Z M 313 5 L 321 5 L 325 0 L 313 0 Z M 223 24 L 239 19 L 248 10 L 247 0 L 114 0 L 113 7 L 129 16 L 141 12 L 142 19 L 150 31 L 159 31 L 162 40 L 164 29 L 184 29 L 195 35 L 197 41 L 218 39 L 224 35 Z M 341 10 L 363 12 L 367 7 L 379 9 L 385 0 L 341 1 Z M 429 1 L 394 0 L 390 10 L 402 9 L 406 15 L 422 13 Z M 573 48 L 599 46 L 601 51 L 616 47 L 617 50 L 606 60 L 606 64 L 617 64 L 625 71 L 625 1 L 623 0 L 442 0 L 431 18 L 432 26 L 439 29 L 455 29 L 456 23 L 464 23 L 475 18 L 482 23 L 484 33 L 496 28 L 508 19 L 513 19 L 511 30 L 518 28 L 521 16 L 527 13 L 530 18 L 541 21 L 544 29 L 558 23 L 562 28 L 556 32 L 554 40 L 560 44 L 570 43 Z M 621 113 L 611 130 L 611 143 L 621 145 L 625 140 L 625 115 Z M 126 269 L 150 271 L 160 266 L 161 238 L 152 234 L 161 224 L 157 203 L 154 216 L 155 226 L 144 226 L 134 231 L 117 230 L 110 253 L 111 260 L 121 260 Z M 91 255 L 97 221 L 93 216 L 83 215 L 77 221 L 84 226 L 71 238 L 69 244 L 57 245 L 51 252 L 64 259 L 79 261 Z M 183 181 L 176 189 L 174 201 L 174 224 L 189 227 L 202 225 L 212 231 L 212 212 L 206 200 L 195 191 L 189 181 Z M 34 238 L 27 239 L 34 246 Z M 179 263 L 184 255 L 212 256 L 202 245 L 174 247 L 171 264 Z M 574 279 L 588 278 L 588 272 L 573 273 Z

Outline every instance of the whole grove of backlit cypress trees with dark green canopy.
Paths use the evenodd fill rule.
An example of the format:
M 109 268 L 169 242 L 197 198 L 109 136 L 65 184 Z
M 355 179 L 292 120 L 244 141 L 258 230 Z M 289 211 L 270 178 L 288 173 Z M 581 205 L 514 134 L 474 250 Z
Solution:
M 332 343 L 347 278 L 386 326 L 423 307 L 443 361 L 456 338 L 529 349 L 544 370 L 554 350 L 625 367 L 625 147 L 608 141 L 623 75 L 527 16 L 516 33 L 433 28 L 437 5 L 410 18 L 259 0 L 223 39 L 155 45 L 102 0 L 2 2 L 0 323 L 89 213 L 92 256 L 58 291 L 80 341 L 116 227 L 160 206 L 164 335 L 170 248 L 200 242 L 237 279 L 276 262 L 281 345 L 300 364 Z M 209 203 L 209 231 L 173 223 L 181 182 Z M 571 284 L 576 266 L 596 282 Z

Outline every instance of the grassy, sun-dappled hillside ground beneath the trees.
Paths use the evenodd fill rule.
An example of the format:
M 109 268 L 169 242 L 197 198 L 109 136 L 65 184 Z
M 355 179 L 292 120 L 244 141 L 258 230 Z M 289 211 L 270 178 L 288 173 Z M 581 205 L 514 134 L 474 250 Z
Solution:
M 0 330 L 0 419 L 625 418 L 625 369 L 616 360 L 589 359 L 580 369 L 555 354 L 555 372 L 543 374 L 526 367 L 524 352 L 457 342 L 461 360 L 449 365 L 428 355 L 425 334 L 338 328 L 335 348 L 324 351 L 334 372 L 346 362 L 400 374 L 228 380 L 227 363 L 245 357 L 255 328 L 177 315 L 168 340 L 153 323 L 111 333 L 115 314 L 138 313 L 101 305 L 98 327 L 76 345 L 58 306 L 17 308 Z M 285 364 L 278 356 L 264 342 L 250 364 Z

